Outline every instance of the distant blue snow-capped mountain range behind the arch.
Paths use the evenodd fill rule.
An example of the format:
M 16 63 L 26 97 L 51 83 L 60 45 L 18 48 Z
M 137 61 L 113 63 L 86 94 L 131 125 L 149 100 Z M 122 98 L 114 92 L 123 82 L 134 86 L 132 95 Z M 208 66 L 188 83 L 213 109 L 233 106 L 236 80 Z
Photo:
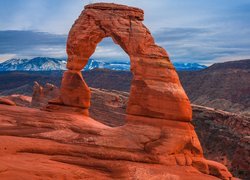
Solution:
M 0 64 L 0 71 L 51 71 L 65 70 L 66 60 L 59 58 L 36 57 L 33 59 L 10 59 Z M 206 68 L 198 63 L 174 63 L 177 71 L 196 71 Z M 117 71 L 129 71 L 130 62 L 103 61 L 89 59 L 84 70 L 104 68 Z

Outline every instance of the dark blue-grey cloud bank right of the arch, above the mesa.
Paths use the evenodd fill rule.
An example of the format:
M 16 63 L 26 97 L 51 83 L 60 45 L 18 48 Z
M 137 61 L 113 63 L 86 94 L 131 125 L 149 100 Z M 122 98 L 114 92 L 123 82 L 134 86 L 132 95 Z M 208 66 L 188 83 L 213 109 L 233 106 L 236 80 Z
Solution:
M 228 33 L 213 28 L 163 28 L 153 33 L 156 43 L 163 46 L 173 61 L 212 64 L 230 57 L 249 57 L 248 32 Z M 239 38 L 242 36 L 242 38 Z M 238 39 L 239 38 L 239 39 Z M 223 58 L 222 58 L 223 57 Z

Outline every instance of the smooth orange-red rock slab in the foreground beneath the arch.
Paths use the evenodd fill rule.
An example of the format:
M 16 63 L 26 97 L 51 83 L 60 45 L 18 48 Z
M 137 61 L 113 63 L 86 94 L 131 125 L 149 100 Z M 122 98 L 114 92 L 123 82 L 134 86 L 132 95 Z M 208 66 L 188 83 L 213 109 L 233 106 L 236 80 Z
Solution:
M 0 105 L 0 179 L 216 179 L 211 163 L 183 152 L 200 151 L 190 128 L 175 121 L 112 128 L 87 116 Z M 220 168 L 212 175 L 229 177 Z

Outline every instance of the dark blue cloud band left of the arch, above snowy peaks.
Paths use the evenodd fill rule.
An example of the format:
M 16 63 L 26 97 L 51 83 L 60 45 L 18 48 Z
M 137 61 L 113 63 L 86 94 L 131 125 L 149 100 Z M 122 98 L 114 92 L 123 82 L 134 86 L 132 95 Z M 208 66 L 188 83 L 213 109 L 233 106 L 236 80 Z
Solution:
M 33 31 L 0 31 L 0 54 L 16 57 L 65 57 L 66 35 Z

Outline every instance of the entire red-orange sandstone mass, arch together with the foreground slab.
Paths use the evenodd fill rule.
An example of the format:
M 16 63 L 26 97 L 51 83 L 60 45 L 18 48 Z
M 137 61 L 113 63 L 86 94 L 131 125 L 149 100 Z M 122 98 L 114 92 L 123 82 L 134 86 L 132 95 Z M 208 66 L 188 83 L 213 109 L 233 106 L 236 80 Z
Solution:
M 65 169 L 81 171 L 80 178 L 232 177 L 225 166 L 203 157 L 190 122 L 189 100 L 166 51 L 154 43 L 142 20 L 143 11 L 137 8 L 105 3 L 85 7 L 69 34 L 69 70 L 63 76 L 60 98 L 48 108 L 61 112 L 0 108 L 0 134 L 18 136 L 0 136 L 0 147 L 8 148 L 0 149 L 0 160 L 4 162 L 0 177 L 12 177 L 13 171 L 16 175 L 24 174 L 23 169 L 9 165 L 15 163 L 13 159 L 29 168 L 42 167 L 44 177 L 60 175 L 55 178 L 62 178 Z M 133 72 L 127 123 L 116 128 L 68 113 L 82 109 L 87 114 L 90 91 L 80 70 L 107 36 L 128 53 Z M 24 130 L 18 131 L 20 128 Z M 36 171 L 30 172 L 31 178 L 34 175 Z M 64 177 L 77 179 L 74 175 Z

